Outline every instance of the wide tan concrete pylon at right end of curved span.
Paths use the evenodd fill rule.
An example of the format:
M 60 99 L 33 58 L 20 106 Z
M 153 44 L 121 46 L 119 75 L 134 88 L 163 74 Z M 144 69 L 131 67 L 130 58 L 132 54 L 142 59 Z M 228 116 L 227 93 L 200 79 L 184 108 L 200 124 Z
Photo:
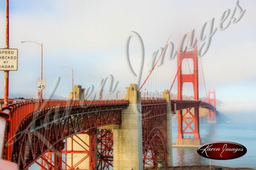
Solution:
M 142 118 L 137 84 L 127 88 L 129 107 L 122 110 L 122 127 L 113 129 L 113 169 L 143 170 Z

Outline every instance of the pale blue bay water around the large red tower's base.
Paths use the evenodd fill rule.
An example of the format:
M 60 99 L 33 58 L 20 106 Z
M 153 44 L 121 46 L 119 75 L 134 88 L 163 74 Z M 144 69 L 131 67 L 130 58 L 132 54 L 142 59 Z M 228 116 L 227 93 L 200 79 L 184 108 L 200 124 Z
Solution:
M 202 144 L 213 141 L 236 142 L 247 148 L 247 153 L 236 159 L 210 160 L 197 153 L 198 148 L 173 147 L 174 166 L 212 165 L 223 167 L 250 167 L 256 169 L 256 122 L 228 121 L 200 124 Z M 192 137 L 192 135 L 191 135 Z M 172 122 L 172 142 L 177 138 L 177 122 Z

